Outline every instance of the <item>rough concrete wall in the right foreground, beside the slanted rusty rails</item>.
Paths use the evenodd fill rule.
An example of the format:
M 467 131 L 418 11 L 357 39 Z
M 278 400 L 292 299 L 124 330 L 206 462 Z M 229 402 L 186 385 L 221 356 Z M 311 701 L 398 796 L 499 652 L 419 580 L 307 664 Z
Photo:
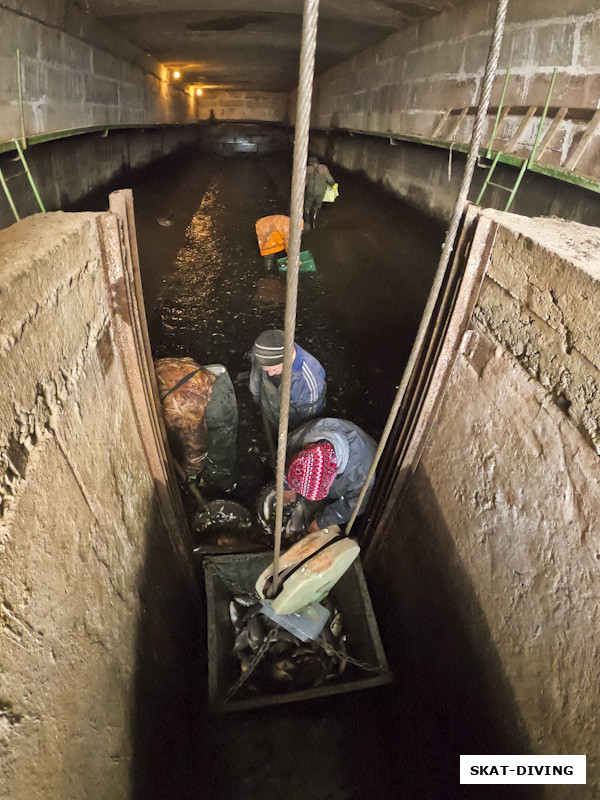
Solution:
M 600 235 L 494 216 L 501 229 L 472 329 L 372 571 L 407 620 L 396 636 L 409 659 L 422 630 L 442 631 L 446 663 L 424 669 L 448 693 L 460 669 L 465 720 L 467 696 L 485 689 L 502 746 L 513 748 L 487 752 L 586 754 L 586 787 L 543 796 L 591 800 L 600 786 Z M 466 746 L 486 752 L 486 739 Z

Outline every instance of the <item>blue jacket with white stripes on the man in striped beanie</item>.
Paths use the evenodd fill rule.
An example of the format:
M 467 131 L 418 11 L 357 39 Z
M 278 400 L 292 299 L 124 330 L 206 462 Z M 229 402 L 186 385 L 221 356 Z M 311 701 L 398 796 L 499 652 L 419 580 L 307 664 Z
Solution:
M 314 356 L 294 343 L 296 358 L 292 364 L 290 391 L 290 425 L 299 425 L 322 413 L 325 408 L 327 383 L 325 370 Z M 269 385 L 270 384 L 270 385 Z M 250 391 L 254 400 L 262 403 L 269 422 L 276 428 L 279 424 L 281 404 L 281 385 L 273 382 L 267 373 L 256 363 L 252 355 L 250 371 Z

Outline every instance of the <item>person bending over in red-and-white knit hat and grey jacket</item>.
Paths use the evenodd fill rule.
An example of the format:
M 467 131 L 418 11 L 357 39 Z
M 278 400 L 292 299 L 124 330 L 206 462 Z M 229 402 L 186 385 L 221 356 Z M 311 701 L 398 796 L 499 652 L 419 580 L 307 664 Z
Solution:
M 350 519 L 371 468 L 377 444 L 358 425 L 325 417 L 304 423 L 288 438 L 286 501 L 299 494 L 314 502 L 308 530 L 344 525 Z M 367 505 L 373 481 L 361 504 Z

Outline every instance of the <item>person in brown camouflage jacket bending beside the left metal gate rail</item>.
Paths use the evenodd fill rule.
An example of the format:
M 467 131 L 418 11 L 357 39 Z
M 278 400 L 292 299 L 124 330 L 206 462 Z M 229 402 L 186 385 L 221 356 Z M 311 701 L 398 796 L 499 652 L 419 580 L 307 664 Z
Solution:
M 175 458 L 189 478 L 202 474 L 214 488 L 231 489 L 238 410 L 227 370 L 192 358 L 159 358 L 154 372 Z

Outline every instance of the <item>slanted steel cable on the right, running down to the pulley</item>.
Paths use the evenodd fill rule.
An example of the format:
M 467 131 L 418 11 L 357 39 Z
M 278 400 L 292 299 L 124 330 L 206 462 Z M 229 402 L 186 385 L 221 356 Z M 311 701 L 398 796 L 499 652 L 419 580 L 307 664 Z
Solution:
M 377 465 L 379 464 L 379 460 L 381 459 L 381 455 L 383 453 L 385 445 L 387 444 L 390 433 L 392 432 L 394 422 L 398 415 L 398 411 L 400 410 L 400 406 L 402 405 L 402 401 L 404 400 L 406 389 L 408 387 L 412 373 L 415 369 L 415 364 L 419 357 L 419 353 L 423 346 L 423 342 L 427 334 L 427 329 L 431 323 L 438 295 L 440 293 L 442 284 L 444 283 L 444 279 L 446 276 L 446 269 L 448 267 L 448 264 L 450 263 L 450 256 L 452 255 L 452 251 L 454 250 L 454 244 L 456 240 L 456 234 L 458 232 L 458 226 L 460 224 L 464 212 L 464 207 L 467 202 L 469 189 L 471 188 L 471 181 L 473 179 L 473 172 L 475 170 L 475 164 L 477 163 L 477 157 L 479 155 L 479 147 L 483 136 L 483 126 L 487 116 L 487 111 L 490 103 L 490 95 L 492 93 L 492 86 L 494 83 L 494 77 L 496 74 L 496 68 L 498 66 L 498 59 L 500 56 L 500 47 L 502 45 L 502 35 L 504 33 L 504 23 L 506 20 L 507 7 L 508 7 L 508 0 L 498 0 L 498 6 L 496 8 L 496 19 L 494 21 L 494 29 L 492 32 L 492 39 L 485 66 L 483 82 L 481 85 L 479 105 L 477 107 L 477 113 L 475 116 L 475 124 L 473 126 L 471 144 L 469 146 L 469 152 L 467 154 L 465 171 L 463 173 L 462 182 L 460 185 L 458 196 L 456 198 L 456 203 L 454 205 L 452 217 L 450 219 L 450 226 L 448 227 L 448 230 L 446 232 L 446 238 L 444 240 L 444 246 L 442 248 L 442 253 L 440 256 L 437 272 L 433 280 L 431 291 L 427 299 L 427 305 L 425 306 L 425 310 L 421 318 L 419 330 L 417 331 L 417 336 L 415 338 L 415 342 L 413 344 L 408 359 L 408 363 L 406 364 L 406 367 L 404 369 L 404 374 L 402 375 L 402 380 L 398 387 L 394 403 L 390 410 L 390 414 L 385 424 L 385 428 L 383 429 L 383 433 L 381 434 L 381 439 L 379 441 L 379 445 L 377 447 L 377 451 L 373 459 L 373 464 L 371 465 L 369 473 L 365 478 L 365 482 L 361 489 L 360 495 L 358 497 L 358 500 L 356 501 L 356 505 L 354 506 L 352 516 L 350 517 L 350 520 L 348 521 L 348 524 L 346 526 L 346 535 L 350 533 L 350 530 L 354 525 L 354 522 L 358 515 L 358 509 L 360 508 L 365 498 L 369 484 L 373 479 L 375 470 L 377 469 Z

